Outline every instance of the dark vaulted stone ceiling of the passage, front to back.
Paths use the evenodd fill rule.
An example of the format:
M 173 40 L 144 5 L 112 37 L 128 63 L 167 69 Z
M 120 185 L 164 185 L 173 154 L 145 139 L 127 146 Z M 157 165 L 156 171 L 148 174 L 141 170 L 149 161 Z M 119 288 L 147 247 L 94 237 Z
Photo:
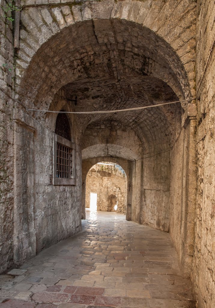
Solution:
M 36 78 L 30 79 L 35 71 Z M 97 111 L 183 99 L 188 83 L 176 54 L 151 30 L 125 20 L 89 20 L 63 29 L 42 45 L 21 93 L 35 96 L 34 105 L 28 100 L 31 107 L 47 108 L 60 88 L 67 99 L 77 96 L 74 111 Z M 143 142 L 170 147 L 180 109 L 168 105 L 77 118 L 83 130 L 89 124 L 114 120 L 135 130 Z

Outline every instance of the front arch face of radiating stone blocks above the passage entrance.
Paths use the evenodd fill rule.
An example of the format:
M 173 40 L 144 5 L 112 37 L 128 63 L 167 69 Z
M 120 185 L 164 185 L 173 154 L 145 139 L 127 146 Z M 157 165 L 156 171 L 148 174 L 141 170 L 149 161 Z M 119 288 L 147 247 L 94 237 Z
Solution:
M 174 2 L 174 3 L 173 3 Z M 34 61 L 34 54 L 40 51 L 42 44 L 60 32 L 63 28 L 86 20 L 120 19 L 136 22 L 143 27 L 151 29 L 160 38 L 164 39 L 172 47 L 181 60 L 170 62 L 173 71 L 180 80 L 181 87 L 186 98 L 194 95 L 194 47 L 195 47 L 195 3 L 187 1 L 92 1 L 82 2 L 70 6 L 62 4 L 40 3 L 39 6 L 32 4 L 31 0 L 22 3 L 21 13 L 22 29 L 20 31 L 20 50 L 16 67 L 17 92 L 22 76 L 31 62 L 33 69 L 37 70 L 40 63 Z M 136 14 L 135 14 L 136 12 Z M 178 19 L 178 16 L 180 18 Z M 166 22 L 171 24 L 167 27 Z M 171 21 L 171 23 L 170 23 Z M 38 35 L 38 33 L 40 35 Z M 98 38 L 97 38 L 98 39 Z M 137 40 L 138 41 L 138 40 Z M 46 53 L 51 55 L 51 50 Z M 173 52 L 174 54 L 174 52 Z M 41 63 L 42 64 L 42 63 Z M 181 66 L 181 67 L 180 67 Z M 183 66 L 185 69 L 183 69 Z M 180 67 L 180 69 L 179 69 Z M 60 68 L 60 67 L 59 67 Z M 43 67 L 46 71 L 46 67 Z M 186 72 L 185 72 L 186 70 Z M 186 78 L 186 73 L 188 79 Z M 57 80 L 57 77 L 54 81 Z M 57 87 L 58 83 L 56 84 Z M 34 87 L 31 88 L 33 95 Z M 183 95 L 183 93 L 181 94 Z

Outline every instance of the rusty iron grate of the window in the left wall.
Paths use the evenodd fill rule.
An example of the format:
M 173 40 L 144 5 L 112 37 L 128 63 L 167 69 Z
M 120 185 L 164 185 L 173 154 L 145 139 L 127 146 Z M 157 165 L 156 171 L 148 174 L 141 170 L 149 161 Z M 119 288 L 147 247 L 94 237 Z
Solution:
M 57 174 L 59 178 L 71 179 L 72 174 L 72 149 L 57 142 Z

